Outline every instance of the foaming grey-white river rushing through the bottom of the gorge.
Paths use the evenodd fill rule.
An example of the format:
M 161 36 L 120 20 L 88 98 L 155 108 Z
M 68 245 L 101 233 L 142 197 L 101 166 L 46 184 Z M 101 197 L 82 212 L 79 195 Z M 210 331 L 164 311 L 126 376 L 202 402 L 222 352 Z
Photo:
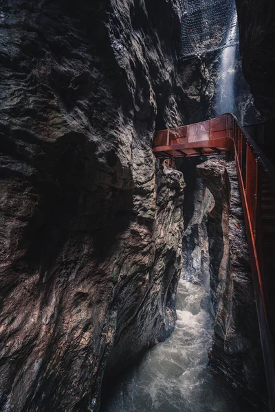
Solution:
M 102 412 L 243 412 L 236 394 L 208 368 L 213 321 L 201 309 L 205 291 L 181 279 L 175 331 L 145 354 Z

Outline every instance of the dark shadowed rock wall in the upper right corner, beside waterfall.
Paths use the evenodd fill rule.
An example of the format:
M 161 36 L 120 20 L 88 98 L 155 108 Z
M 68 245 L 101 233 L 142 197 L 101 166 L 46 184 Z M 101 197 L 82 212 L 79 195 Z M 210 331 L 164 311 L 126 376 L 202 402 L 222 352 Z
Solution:
M 275 4 L 270 0 L 236 0 L 243 73 L 256 107 L 275 116 Z M 274 137 L 273 137 L 274 139 Z

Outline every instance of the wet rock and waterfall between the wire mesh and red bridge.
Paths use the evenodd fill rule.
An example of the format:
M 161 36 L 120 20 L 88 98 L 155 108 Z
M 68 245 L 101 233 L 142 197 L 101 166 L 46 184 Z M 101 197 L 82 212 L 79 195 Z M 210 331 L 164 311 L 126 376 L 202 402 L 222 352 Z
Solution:
M 235 46 L 232 62 L 223 67 L 223 52 L 217 50 L 179 62 L 188 123 L 202 122 L 223 113 L 233 113 L 241 124 L 255 124 L 262 117 L 254 106 L 250 87 L 243 78 L 241 56 Z M 226 78 L 232 77 L 230 84 Z

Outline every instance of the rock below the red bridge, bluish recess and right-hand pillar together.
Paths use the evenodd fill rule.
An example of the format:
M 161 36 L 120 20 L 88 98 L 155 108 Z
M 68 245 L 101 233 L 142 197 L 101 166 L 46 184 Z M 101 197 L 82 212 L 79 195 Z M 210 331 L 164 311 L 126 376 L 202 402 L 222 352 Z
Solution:
M 259 323 L 234 161 L 184 159 L 184 277 L 208 294 L 201 307 L 214 319 L 212 371 L 225 376 L 245 410 L 267 411 Z

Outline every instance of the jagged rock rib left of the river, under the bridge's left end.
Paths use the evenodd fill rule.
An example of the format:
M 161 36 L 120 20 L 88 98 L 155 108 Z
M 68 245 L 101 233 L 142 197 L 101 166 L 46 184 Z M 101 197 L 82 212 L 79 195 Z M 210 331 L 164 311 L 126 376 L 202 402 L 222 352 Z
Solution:
M 181 172 L 159 170 L 151 271 L 146 273 L 146 282 L 142 273 L 130 286 L 127 284 L 123 290 L 116 290 L 114 301 L 115 306 L 118 306 L 118 328 L 105 371 L 108 382 L 112 378 L 117 380 L 118 372 L 129 367 L 140 353 L 140 348 L 164 341 L 174 328 L 175 293 L 182 264 L 184 186 Z M 140 271 L 140 266 L 137 266 L 137 270 Z

